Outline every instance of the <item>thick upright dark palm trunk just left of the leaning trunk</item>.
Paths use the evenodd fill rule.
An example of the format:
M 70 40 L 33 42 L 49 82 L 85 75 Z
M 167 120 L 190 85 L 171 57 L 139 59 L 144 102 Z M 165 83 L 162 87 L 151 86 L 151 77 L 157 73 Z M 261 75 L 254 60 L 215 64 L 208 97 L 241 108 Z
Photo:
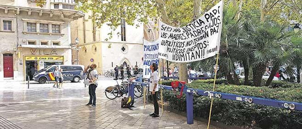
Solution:
M 255 86 L 261 86 L 262 76 L 265 71 L 265 65 L 257 64 L 253 67 L 253 83 Z

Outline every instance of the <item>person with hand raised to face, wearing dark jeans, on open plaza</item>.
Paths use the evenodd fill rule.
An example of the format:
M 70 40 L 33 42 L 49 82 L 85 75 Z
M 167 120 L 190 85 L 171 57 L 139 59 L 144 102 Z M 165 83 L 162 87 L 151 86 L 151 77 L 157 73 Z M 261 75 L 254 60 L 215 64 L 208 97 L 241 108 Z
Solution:
M 92 107 L 96 106 L 96 95 L 95 95 L 95 89 L 96 87 L 98 87 L 98 71 L 95 69 L 97 67 L 96 64 L 91 64 L 88 65 L 85 70 L 84 73 L 87 74 L 87 78 L 90 80 L 89 83 L 89 102 L 86 105 L 92 105 Z M 89 69 L 89 70 L 88 70 Z M 93 100 L 93 101 L 92 101 Z

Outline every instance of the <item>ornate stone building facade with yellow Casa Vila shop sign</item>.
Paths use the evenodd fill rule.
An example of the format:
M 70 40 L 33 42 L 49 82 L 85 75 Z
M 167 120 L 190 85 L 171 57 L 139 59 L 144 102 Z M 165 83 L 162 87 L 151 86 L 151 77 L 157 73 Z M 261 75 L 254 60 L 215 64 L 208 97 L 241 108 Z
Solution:
M 84 16 L 73 0 L 0 1 L 0 81 L 26 80 L 29 70 L 72 64 L 70 22 Z

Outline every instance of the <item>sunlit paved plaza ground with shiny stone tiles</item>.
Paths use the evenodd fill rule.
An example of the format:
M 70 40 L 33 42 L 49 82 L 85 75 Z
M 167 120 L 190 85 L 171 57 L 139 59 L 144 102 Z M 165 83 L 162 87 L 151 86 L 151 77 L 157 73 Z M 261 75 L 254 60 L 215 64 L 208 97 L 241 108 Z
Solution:
M 34 83 L 34 82 L 32 82 Z M 136 99 L 133 110 L 120 108 L 121 98 L 106 98 L 104 89 L 115 85 L 114 80 L 98 80 L 96 107 L 88 103 L 88 87 L 83 83 L 64 83 L 63 89 L 53 84 L 0 82 L 0 116 L 22 129 L 206 129 L 207 123 L 194 121 L 188 125 L 186 117 L 160 109 L 160 117 L 149 116 L 153 105 L 143 106 L 143 98 Z M 10 129 L 0 119 L 0 129 Z M 6 126 L 5 126 L 6 125 Z M 212 129 L 220 129 L 211 126 Z

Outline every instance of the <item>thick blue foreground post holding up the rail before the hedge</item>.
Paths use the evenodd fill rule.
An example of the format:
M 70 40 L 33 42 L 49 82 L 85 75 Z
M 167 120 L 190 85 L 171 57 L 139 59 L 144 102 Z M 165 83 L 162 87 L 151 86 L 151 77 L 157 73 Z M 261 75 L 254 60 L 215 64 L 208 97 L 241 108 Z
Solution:
M 189 92 L 188 92 L 189 91 Z M 187 124 L 193 124 L 193 93 L 192 90 L 186 92 L 186 103 L 187 103 Z

